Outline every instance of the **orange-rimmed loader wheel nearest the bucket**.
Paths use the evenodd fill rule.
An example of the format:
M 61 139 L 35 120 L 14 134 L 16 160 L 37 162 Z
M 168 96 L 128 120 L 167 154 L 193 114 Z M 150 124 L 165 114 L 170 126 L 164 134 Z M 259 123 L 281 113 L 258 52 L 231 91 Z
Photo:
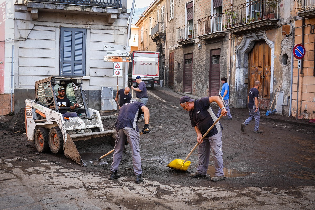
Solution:
M 58 126 L 49 130 L 48 134 L 49 148 L 52 153 L 60 154 L 63 151 L 63 136 Z

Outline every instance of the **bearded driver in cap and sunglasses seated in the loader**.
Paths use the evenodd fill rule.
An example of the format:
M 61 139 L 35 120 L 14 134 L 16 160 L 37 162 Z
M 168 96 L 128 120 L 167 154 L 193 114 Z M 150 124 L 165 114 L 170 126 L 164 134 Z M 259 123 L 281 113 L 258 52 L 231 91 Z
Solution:
M 73 106 L 71 105 L 71 102 L 67 97 L 65 97 L 66 88 L 63 86 L 60 86 L 58 88 L 58 96 L 57 96 L 57 102 L 59 107 L 66 107 L 70 106 L 71 110 L 74 110 L 76 107 L 79 107 L 79 104 L 74 103 Z M 76 112 L 68 112 L 67 110 L 59 110 L 59 113 L 62 114 L 64 117 L 77 117 Z

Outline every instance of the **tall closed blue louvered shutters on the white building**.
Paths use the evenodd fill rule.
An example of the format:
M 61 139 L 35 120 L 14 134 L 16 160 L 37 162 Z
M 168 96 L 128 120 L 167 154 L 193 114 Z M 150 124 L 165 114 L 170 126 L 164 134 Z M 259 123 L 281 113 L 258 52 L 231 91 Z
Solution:
M 61 28 L 60 75 L 85 76 L 86 29 Z

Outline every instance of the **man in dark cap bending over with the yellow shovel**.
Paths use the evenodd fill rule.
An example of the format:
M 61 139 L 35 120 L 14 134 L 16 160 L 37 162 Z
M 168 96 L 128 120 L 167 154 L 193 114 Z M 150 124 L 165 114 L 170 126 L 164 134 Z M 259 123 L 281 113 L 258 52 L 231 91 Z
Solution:
M 181 107 L 183 107 L 184 110 L 189 111 L 192 127 L 195 128 L 197 141 L 200 143 L 198 145 L 199 165 L 197 167 L 197 172 L 191 173 L 189 176 L 194 178 L 206 177 L 209 165 L 210 149 L 212 148 L 212 153 L 215 159 L 215 176 L 211 177 L 211 181 L 220 181 L 224 179 L 221 142 L 223 128 L 221 123 L 219 122 L 215 124 L 207 136 L 204 139 L 201 139 L 211 125 L 218 119 L 210 107 L 210 103 L 212 102 L 217 103 L 219 107 L 221 107 L 221 115 L 226 116 L 226 108 L 219 96 L 204 97 L 196 101 L 188 96 L 180 98 Z

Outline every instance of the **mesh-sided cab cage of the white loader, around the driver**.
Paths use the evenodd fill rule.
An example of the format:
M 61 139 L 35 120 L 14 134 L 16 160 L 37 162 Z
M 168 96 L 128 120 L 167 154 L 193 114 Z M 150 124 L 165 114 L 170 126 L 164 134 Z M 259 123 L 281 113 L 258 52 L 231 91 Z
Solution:
M 58 111 L 57 95 L 58 88 L 66 88 L 65 96 L 69 99 L 71 105 L 78 103 L 76 112 L 81 118 L 88 118 L 86 97 L 82 95 L 82 77 L 58 77 L 53 76 L 39 80 L 35 84 L 35 102 L 54 111 Z M 84 100 L 85 99 L 85 100 Z

